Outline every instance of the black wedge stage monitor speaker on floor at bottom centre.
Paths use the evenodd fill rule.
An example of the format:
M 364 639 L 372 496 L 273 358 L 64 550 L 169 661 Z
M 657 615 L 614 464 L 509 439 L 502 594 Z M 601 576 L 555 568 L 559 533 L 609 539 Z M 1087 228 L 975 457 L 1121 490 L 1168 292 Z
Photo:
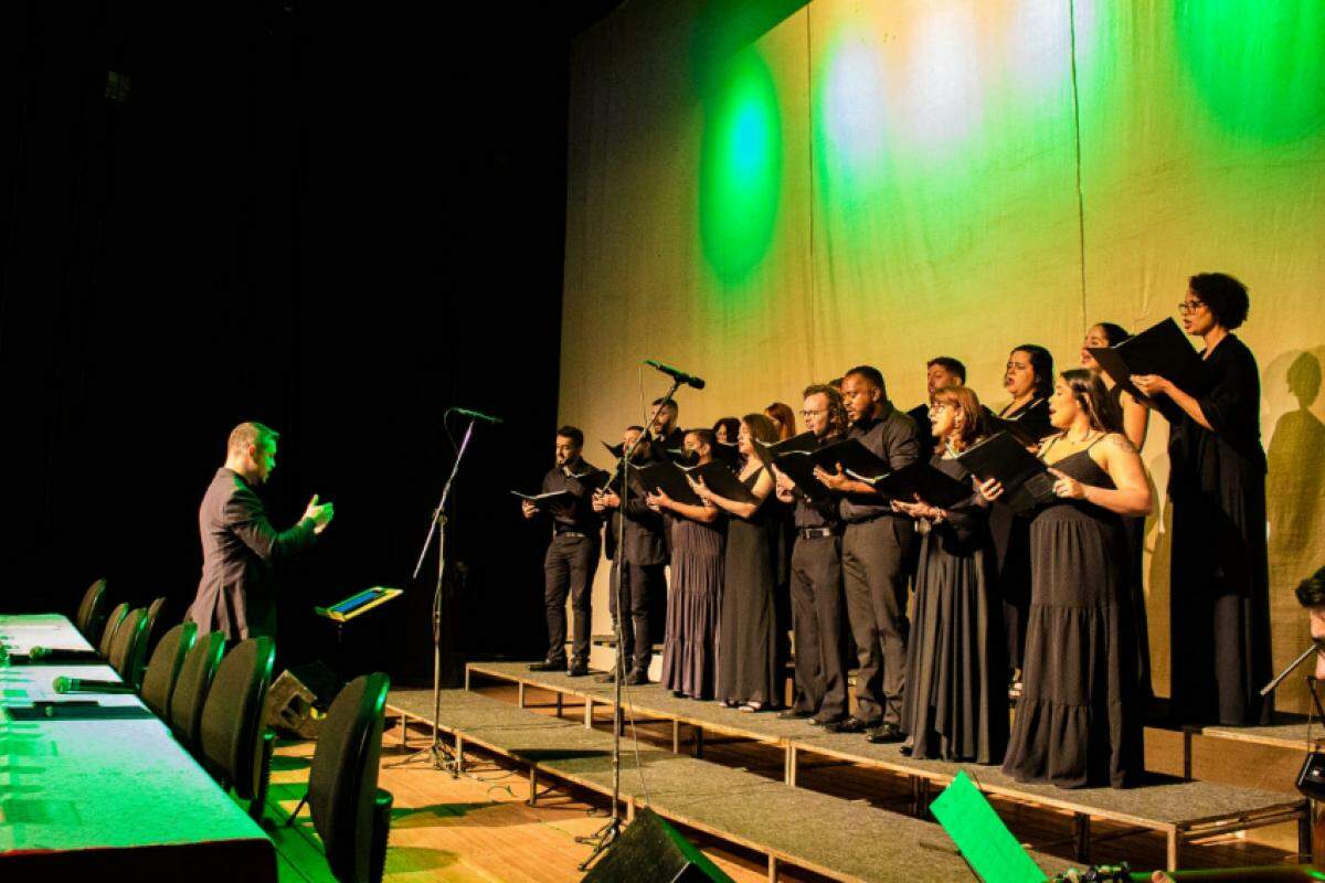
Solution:
M 674 827 L 647 809 L 635 810 L 583 883 L 712 883 L 731 878 Z

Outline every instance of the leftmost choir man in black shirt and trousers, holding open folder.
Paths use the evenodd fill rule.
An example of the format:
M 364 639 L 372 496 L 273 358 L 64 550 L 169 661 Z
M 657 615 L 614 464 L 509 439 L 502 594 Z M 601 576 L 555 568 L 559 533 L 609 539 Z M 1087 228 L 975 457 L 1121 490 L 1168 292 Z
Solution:
M 543 475 L 543 494 L 566 491 L 568 498 L 547 511 L 553 518 L 553 541 L 543 556 L 543 610 L 547 616 L 547 657 L 529 666 L 530 671 L 567 669 L 572 678 L 588 674 L 588 643 L 592 612 L 590 598 L 594 572 L 602 551 L 602 522 L 592 508 L 591 477 L 599 470 L 584 462 L 580 451 L 584 433 L 575 426 L 556 430 L 556 465 Z M 530 500 L 521 503 L 525 518 L 534 518 L 539 508 Z M 574 643 L 570 666 L 566 663 L 566 596 L 574 614 Z

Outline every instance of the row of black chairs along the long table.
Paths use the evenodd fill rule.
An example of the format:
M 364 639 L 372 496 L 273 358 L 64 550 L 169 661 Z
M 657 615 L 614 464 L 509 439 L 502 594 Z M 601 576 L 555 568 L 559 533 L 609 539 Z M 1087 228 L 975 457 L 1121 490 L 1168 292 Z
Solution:
M 121 604 L 102 618 L 105 597 L 105 580 L 89 586 L 78 629 L 89 641 L 101 630 L 98 647 L 121 678 L 261 821 L 276 744 L 264 725 L 274 642 L 250 638 L 227 653 L 220 631 L 199 638 L 188 621 L 154 641 L 164 598 L 138 610 Z M 378 788 L 378 768 L 390 686 L 380 673 L 346 684 L 322 723 L 309 769 L 305 801 L 331 874 L 342 883 L 380 883 L 386 867 L 394 797 Z

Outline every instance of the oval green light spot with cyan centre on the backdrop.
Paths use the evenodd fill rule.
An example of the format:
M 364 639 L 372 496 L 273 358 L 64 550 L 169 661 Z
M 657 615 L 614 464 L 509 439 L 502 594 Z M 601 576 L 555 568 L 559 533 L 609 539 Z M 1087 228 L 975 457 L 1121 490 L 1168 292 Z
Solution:
M 772 242 L 782 192 L 782 120 L 768 65 L 733 56 L 705 95 L 700 241 L 718 278 L 734 285 Z

